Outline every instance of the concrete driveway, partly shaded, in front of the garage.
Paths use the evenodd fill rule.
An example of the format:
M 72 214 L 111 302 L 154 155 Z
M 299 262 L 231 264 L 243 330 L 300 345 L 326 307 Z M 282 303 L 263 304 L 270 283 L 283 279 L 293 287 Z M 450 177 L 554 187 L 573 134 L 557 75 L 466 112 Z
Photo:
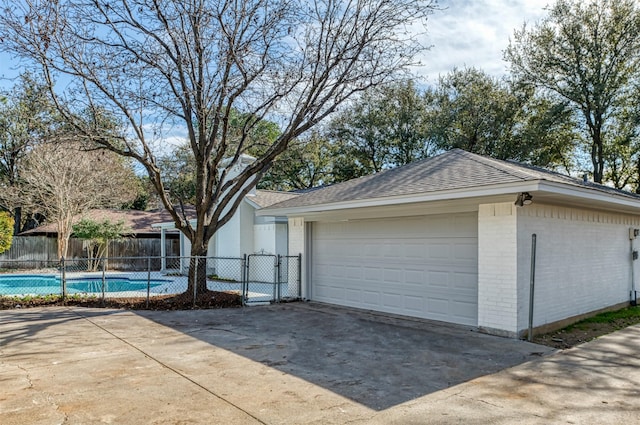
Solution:
M 638 353 L 303 303 L 0 311 L 0 423 L 637 423 Z

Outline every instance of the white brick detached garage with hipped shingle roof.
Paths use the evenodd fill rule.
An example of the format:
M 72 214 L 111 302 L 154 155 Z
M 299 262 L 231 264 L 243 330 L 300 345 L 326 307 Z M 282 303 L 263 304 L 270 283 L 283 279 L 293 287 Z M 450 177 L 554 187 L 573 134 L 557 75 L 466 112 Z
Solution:
M 635 301 L 640 197 L 523 164 L 456 149 L 257 214 L 310 300 L 511 337 Z

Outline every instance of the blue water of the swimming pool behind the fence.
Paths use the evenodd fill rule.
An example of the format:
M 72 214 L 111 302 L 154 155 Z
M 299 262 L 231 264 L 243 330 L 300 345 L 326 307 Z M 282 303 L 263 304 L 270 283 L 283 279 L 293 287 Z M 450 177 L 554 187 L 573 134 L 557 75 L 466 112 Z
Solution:
M 147 290 L 169 282 L 161 279 L 129 279 L 127 277 L 105 278 L 105 292 L 127 292 Z M 0 275 L 0 295 L 46 295 L 61 294 L 62 282 L 54 275 Z M 102 277 L 67 279 L 68 294 L 102 293 Z

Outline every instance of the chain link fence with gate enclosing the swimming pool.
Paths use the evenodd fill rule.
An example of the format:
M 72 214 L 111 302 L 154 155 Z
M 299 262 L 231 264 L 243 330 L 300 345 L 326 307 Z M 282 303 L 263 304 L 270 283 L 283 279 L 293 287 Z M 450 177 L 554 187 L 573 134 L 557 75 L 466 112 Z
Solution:
M 301 257 L 112 257 L 0 261 L 0 296 L 140 300 L 148 308 L 169 297 L 210 303 L 222 294 L 243 305 L 300 298 Z M 189 304 L 189 303 L 184 303 Z

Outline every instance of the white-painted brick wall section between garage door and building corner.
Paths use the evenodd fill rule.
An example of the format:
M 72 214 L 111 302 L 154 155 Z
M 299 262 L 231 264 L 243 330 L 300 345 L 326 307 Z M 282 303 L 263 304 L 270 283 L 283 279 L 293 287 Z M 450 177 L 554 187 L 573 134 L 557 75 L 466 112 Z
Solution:
M 494 334 L 518 331 L 518 227 L 512 202 L 478 208 L 478 327 Z

